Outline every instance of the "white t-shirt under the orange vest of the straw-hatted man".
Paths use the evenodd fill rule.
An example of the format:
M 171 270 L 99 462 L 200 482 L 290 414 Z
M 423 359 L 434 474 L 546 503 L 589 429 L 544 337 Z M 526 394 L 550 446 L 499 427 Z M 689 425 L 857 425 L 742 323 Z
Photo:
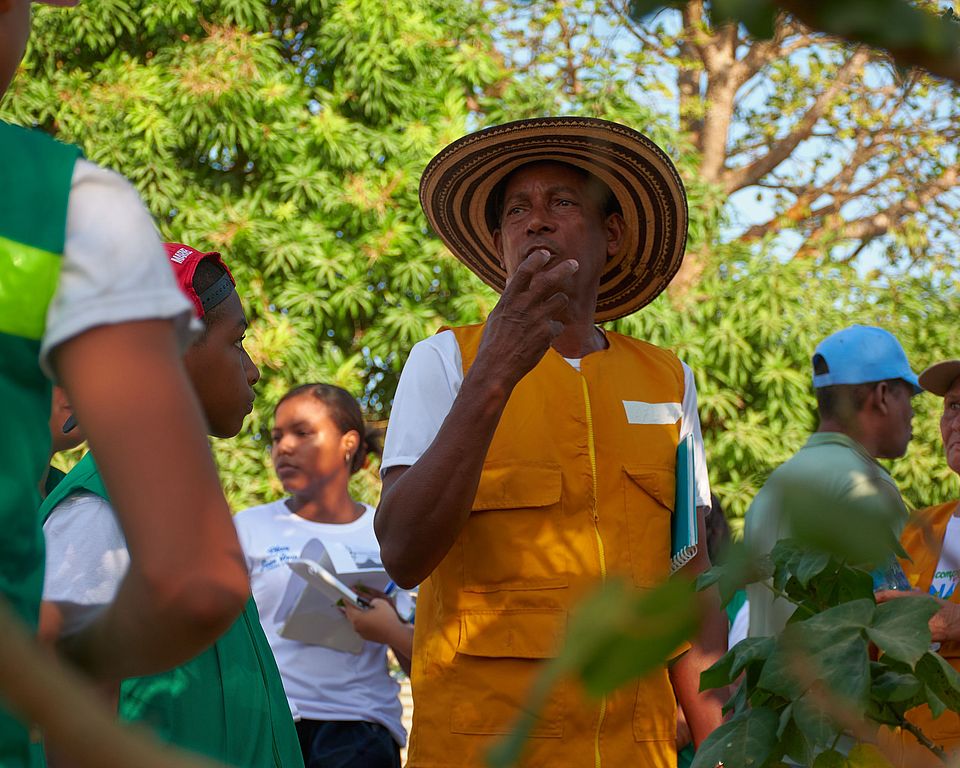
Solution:
M 567 362 L 579 370 L 579 360 Z M 710 479 L 697 415 L 697 385 L 687 364 L 681 365 L 680 440 L 693 435 L 697 506 L 709 507 Z M 397 384 L 383 446 L 381 475 L 390 467 L 411 466 L 426 452 L 453 407 L 462 383 L 463 362 L 453 331 L 443 331 L 414 345 Z

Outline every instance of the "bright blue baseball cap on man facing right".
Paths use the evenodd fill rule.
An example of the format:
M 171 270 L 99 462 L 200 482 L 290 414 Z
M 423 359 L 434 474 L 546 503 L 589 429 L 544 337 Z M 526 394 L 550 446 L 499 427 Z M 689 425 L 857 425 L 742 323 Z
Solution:
M 813 364 L 815 371 L 826 367 L 823 373 L 813 374 L 816 389 L 903 379 L 914 394 L 923 391 L 900 342 L 889 331 L 872 325 L 851 325 L 827 336 L 814 350 Z

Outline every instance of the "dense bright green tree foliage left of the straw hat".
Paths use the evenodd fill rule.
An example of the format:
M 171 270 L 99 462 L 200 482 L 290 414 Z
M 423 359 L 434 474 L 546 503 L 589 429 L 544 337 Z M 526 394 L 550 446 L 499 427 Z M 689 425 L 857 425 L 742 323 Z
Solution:
M 288 387 L 341 384 L 383 418 L 406 350 L 492 306 L 417 202 L 501 76 L 488 30 L 457 0 L 37 11 L 4 116 L 126 175 L 166 238 L 223 251 L 238 279 L 264 377 L 249 434 L 218 445 L 235 505 L 280 490 L 264 432 Z

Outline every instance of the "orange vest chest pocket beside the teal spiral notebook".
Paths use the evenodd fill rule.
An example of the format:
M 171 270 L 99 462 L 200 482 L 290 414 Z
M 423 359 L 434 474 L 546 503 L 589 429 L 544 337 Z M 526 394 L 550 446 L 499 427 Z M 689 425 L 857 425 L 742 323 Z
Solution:
M 640 587 L 653 586 L 670 575 L 676 476 L 662 466 L 624 466 L 622 483 L 633 581 Z

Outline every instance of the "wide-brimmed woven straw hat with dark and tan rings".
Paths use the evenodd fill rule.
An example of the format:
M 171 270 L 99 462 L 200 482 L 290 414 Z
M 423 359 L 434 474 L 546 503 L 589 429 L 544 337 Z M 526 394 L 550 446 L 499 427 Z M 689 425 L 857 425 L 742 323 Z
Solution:
M 619 123 L 588 117 L 518 120 L 464 136 L 423 172 L 420 204 L 451 252 L 503 291 L 491 196 L 522 165 L 556 161 L 589 171 L 613 192 L 626 224 L 620 251 L 600 277 L 597 322 L 649 304 L 677 273 L 687 241 L 687 198 L 663 150 Z

